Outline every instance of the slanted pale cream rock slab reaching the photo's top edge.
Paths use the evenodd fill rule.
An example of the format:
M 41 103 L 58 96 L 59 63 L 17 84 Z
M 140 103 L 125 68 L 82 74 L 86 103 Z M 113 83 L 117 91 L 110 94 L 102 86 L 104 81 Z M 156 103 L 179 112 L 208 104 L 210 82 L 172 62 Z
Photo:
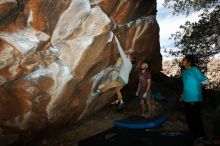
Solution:
M 90 13 L 91 7 L 88 0 L 72 0 L 58 21 L 51 38 L 52 44 L 56 45 L 69 37 L 76 37 L 82 22 Z

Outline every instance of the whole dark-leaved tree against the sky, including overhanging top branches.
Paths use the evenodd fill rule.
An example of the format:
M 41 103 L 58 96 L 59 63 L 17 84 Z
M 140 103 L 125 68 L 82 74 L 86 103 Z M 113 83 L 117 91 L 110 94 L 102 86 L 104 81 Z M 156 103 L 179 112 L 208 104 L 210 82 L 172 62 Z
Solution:
M 171 1 L 166 0 L 165 5 Z M 198 22 L 187 21 L 180 26 L 180 31 L 171 35 L 178 50 L 169 52 L 173 56 L 193 54 L 197 58 L 198 67 L 203 71 L 207 71 L 210 57 L 220 53 L 220 6 L 214 6 L 214 2 L 211 0 L 176 0 L 172 2 L 175 13 L 188 14 L 190 9 L 204 10 Z M 207 8 L 211 7 L 215 8 L 209 12 Z

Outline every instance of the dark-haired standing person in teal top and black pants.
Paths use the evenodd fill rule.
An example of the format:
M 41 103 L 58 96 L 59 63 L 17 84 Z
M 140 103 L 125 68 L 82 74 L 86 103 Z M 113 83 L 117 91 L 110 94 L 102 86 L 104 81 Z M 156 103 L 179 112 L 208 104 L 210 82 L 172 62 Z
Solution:
M 202 85 L 208 84 L 207 77 L 195 67 L 194 57 L 186 55 L 182 60 L 183 66 L 183 94 L 184 111 L 189 130 L 196 137 L 205 136 L 205 130 L 201 118 Z

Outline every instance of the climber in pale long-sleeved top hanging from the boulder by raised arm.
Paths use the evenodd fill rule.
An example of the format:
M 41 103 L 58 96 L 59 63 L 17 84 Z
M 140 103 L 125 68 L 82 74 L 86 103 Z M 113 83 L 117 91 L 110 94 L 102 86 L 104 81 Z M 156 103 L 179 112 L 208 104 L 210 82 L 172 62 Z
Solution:
M 117 110 L 120 111 L 124 108 L 124 101 L 122 98 L 121 89 L 126 84 L 128 84 L 129 75 L 132 70 L 132 59 L 134 59 L 134 58 L 131 53 L 124 53 L 117 37 L 114 36 L 114 40 L 116 42 L 116 45 L 117 45 L 117 48 L 118 48 L 118 51 L 120 54 L 120 58 L 117 60 L 116 65 L 115 65 L 116 69 L 113 72 L 113 76 L 114 76 L 115 80 L 99 85 L 97 92 L 103 93 L 103 92 L 106 92 L 110 89 L 115 88 L 117 98 L 118 98 Z

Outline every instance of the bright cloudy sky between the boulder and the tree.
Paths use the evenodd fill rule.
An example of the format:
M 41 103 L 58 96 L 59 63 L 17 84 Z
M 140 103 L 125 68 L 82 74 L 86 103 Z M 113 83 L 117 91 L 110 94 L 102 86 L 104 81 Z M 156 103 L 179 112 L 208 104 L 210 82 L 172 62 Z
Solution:
M 165 8 L 163 6 L 164 0 L 157 0 L 157 21 L 160 25 L 160 45 L 161 53 L 164 60 L 172 59 L 171 56 L 168 56 L 164 53 L 164 48 L 167 50 L 175 49 L 174 41 L 170 40 L 171 34 L 174 34 L 176 31 L 180 30 L 180 25 L 185 24 L 186 21 L 195 22 L 199 20 L 199 15 L 201 12 L 194 12 L 186 15 L 179 14 L 178 16 L 173 15 L 172 8 Z

